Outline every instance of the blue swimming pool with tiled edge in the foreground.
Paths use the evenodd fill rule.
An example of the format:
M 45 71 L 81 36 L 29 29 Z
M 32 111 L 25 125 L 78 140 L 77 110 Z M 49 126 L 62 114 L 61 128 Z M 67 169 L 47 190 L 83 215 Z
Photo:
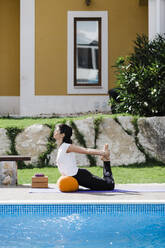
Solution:
M 165 204 L 0 204 L 1 248 L 164 248 Z

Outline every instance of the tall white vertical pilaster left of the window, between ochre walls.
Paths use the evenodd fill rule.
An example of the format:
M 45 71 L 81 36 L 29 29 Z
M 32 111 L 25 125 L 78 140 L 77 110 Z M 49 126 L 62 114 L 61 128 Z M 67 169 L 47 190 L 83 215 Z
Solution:
M 20 0 L 20 114 L 33 108 L 35 94 L 35 0 Z

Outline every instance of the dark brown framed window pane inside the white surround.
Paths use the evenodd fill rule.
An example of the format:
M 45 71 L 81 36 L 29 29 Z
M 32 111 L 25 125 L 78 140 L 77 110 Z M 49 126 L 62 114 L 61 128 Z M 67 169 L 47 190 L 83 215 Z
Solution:
M 101 18 L 74 18 L 74 86 L 101 86 Z

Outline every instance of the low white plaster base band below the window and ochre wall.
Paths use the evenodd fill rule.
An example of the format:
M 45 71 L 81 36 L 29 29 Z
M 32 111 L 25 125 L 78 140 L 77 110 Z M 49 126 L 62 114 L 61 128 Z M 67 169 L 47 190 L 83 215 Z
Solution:
M 108 96 L 35 96 L 23 106 L 22 116 L 40 114 L 75 114 L 110 111 Z

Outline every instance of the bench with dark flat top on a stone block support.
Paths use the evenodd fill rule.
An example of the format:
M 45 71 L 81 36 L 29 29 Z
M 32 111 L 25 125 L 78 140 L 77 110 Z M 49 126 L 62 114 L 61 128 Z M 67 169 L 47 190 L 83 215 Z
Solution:
M 17 185 L 17 162 L 29 161 L 31 157 L 20 155 L 0 156 L 0 184 Z

